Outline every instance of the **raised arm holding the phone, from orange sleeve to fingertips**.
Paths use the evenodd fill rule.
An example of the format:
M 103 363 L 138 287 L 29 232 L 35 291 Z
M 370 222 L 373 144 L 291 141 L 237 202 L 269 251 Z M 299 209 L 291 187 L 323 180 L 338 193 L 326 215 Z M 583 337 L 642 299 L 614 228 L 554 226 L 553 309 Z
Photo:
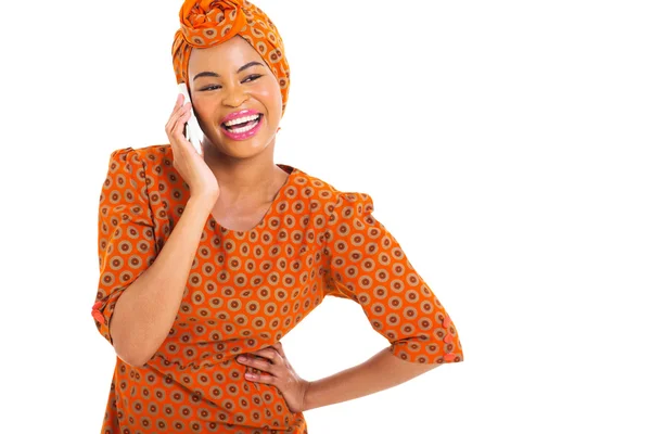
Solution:
M 100 282 L 92 316 L 119 358 L 137 367 L 152 358 L 174 324 L 203 228 L 219 196 L 217 178 L 183 137 L 191 104 L 182 102 L 179 94 L 165 131 L 174 168 L 191 195 L 167 241 L 162 242 L 169 229 L 164 209 L 154 215 L 150 197 L 156 170 L 148 174 L 169 164 L 159 150 L 142 158 L 130 148 L 112 153 L 100 196 Z

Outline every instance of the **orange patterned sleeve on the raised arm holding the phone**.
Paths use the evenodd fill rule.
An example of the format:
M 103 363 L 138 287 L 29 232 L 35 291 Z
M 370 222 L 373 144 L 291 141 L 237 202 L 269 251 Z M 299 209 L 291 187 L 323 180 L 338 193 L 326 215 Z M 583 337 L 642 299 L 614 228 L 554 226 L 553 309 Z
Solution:
M 130 148 L 111 154 L 98 220 L 100 279 L 91 314 L 98 331 L 113 345 L 115 304 L 156 256 L 144 166 Z

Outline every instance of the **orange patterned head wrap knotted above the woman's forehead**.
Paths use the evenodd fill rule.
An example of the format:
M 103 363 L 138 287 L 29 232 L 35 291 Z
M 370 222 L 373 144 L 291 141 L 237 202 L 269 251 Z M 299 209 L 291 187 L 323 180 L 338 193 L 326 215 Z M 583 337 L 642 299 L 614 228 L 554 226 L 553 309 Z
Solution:
M 290 93 L 290 65 L 276 25 L 259 8 L 247 0 L 186 0 L 179 18 L 181 28 L 171 47 L 177 84 L 189 81 L 188 61 L 192 48 L 209 48 L 240 35 L 276 76 L 284 114 Z

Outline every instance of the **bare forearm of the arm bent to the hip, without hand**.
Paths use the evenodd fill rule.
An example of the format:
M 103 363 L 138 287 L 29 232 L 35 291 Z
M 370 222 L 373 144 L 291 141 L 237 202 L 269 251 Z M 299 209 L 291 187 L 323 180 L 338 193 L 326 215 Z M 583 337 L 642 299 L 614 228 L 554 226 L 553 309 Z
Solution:
M 405 361 L 390 348 L 356 367 L 310 382 L 304 411 L 384 391 L 441 366 Z

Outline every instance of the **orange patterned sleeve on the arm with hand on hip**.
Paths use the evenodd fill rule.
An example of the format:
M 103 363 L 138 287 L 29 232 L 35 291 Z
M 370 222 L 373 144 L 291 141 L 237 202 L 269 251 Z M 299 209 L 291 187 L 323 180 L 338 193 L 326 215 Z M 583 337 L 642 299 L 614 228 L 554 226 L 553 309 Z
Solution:
M 463 360 L 457 329 L 405 252 L 373 215 L 366 193 L 337 192 L 324 233 L 326 293 L 358 303 L 403 360 Z

